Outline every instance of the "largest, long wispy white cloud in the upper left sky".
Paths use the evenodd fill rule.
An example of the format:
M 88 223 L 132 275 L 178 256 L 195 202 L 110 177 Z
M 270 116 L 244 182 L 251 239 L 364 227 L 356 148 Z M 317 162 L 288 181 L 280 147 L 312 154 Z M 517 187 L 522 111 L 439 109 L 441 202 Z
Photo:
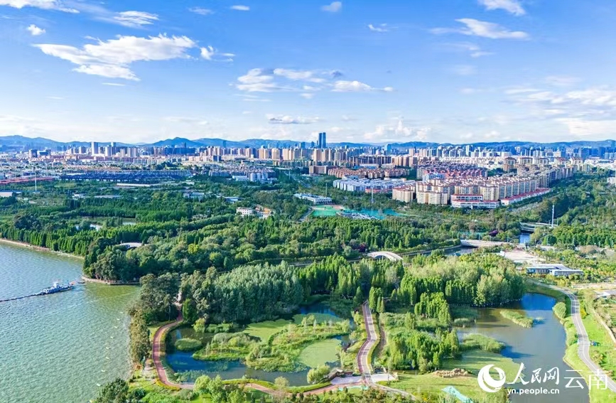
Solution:
M 109 78 L 136 80 L 129 65 L 137 61 L 171 60 L 189 58 L 187 50 L 196 47 L 195 41 L 186 36 L 118 36 L 109 41 L 98 41 L 83 48 L 70 45 L 39 44 L 34 45 L 46 55 L 55 56 L 79 65 L 76 72 L 100 75 Z

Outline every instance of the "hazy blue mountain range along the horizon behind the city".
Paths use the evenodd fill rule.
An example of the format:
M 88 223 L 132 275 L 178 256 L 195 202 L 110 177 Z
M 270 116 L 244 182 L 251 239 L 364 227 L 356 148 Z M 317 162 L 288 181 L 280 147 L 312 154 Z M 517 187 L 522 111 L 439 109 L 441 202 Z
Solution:
M 300 144 L 302 141 L 294 141 L 294 140 L 273 140 L 273 139 L 247 139 L 242 141 L 231 141 L 224 139 L 183 139 L 181 137 L 175 137 L 174 139 L 166 139 L 161 141 L 156 141 L 154 143 L 139 143 L 139 144 L 126 144 L 126 143 L 117 143 L 119 146 L 183 146 L 184 144 L 188 147 L 207 147 L 207 146 L 224 146 L 227 147 L 255 147 L 259 148 L 261 146 L 278 146 L 278 147 L 289 147 L 296 146 L 296 144 Z M 104 146 L 109 143 L 98 142 L 100 145 Z M 310 144 L 309 142 L 306 142 Z M 494 142 L 480 142 L 480 143 L 467 143 L 472 144 L 473 146 L 485 147 L 485 148 L 504 148 L 504 147 L 547 147 L 547 148 L 557 148 L 557 147 L 598 147 L 598 146 L 614 146 L 616 141 L 614 140 L 602 140 L 602 141 L 558 141 L 553 143 L 539 143 L 534 141 L 494 141 Z M 397 148 L 425 148 L 425 147 L 436 147 L 439 145 L 442 146 L 455 146 L 460 144 L 451 144 L 451 143 L 435 143 L 435 142 L 424 142 L 424 141 L 410 141 L 406 143 L 390 143 L 391 146 Z M 63 146 L 86 146 L 89 147 L 90 143 L 85 141 L 55 141 L 50 139 L 45 139 L 43 137 L 25 137 L 25 136 L 0 136 L 0 150 L 1 149 L 52 149 L 55 150 L 58 147 Z M 330 143 L 328 144 L 330 147 L 361 147 L 361 146 L 384 146 L 384 143 Z

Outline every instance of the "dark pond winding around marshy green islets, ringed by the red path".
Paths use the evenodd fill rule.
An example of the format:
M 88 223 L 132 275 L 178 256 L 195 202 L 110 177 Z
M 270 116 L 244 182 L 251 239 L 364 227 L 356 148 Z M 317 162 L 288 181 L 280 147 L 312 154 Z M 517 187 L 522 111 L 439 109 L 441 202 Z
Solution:
M 335 313 L 324 303 L 313 303 L 309 306 L 302 306 L 298 313 L 293 316 L 293 321 L 301 322 L 304 315 L 314 315 L 317 321 L 342 321 L 345 320 L 336 316 Z M 288 323 L 291 323 L 289 321 Z M 194 382 L 201 375 L 215 377 L 220 375 L 223 380 L 239 379 L 241 377 L 254 378 L 274 382 L 277 377 L 285 377 L 289 385 L 307 385 L 306 377 L 308 370 L 299 372 L 268 372 L 264 370 L 254 370 L 247 367 L 239 360 L 195 360 L 192 352 L 182 352 L 175 350 L 173 345 L 179 338 L 195 338 L 201 340 L 205 345 L 212 339 L 212 333 L 196 333 L 193 328 L 176 329 L 170 334 L 167 340 L 166 361 L 174 372 L 180 372 L 183 382 Z M 304 350 L 300 356 L 300 361 L 305 365 L 328 364 L 330 367 L 337 365 L 336 347 L 340 344 L 349 343 L 348 336 L 338 336 L 333 339 L 320 340 L 313 343 Z M 317 350 L 315 350 L 317 348 Z

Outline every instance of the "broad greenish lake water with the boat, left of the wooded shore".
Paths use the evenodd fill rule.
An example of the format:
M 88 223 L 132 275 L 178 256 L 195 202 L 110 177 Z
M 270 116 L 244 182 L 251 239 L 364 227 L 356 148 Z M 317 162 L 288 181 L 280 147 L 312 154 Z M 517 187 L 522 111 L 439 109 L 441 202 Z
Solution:
M 82 261 L 0 243 L 0 299 L 81 275 Z M 87 402 L 129 375 L 129 316 L 139 289 L 104 284 L 0 303 L 0 402 Z

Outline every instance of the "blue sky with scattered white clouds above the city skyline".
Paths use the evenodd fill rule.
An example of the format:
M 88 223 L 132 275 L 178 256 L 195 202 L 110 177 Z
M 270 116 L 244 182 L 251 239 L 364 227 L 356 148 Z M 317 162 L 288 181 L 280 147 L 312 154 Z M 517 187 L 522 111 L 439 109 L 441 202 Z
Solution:
M 612 0 L 0 0 L 0 135 L 616 137 Z

